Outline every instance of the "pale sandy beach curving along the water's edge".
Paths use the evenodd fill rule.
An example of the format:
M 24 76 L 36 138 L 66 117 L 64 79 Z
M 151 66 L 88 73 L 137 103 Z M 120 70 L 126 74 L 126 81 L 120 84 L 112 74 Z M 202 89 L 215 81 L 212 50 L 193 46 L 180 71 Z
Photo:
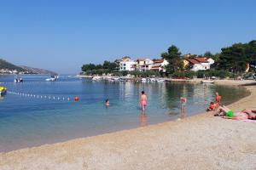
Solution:
M 216 81 L 241 85 L 252 81 Z M 229 105 L 256 110 L 251 94 Z M 202 113 L 183 120 L 0 153 L 0 169 L 256 169 L 256 123 Z

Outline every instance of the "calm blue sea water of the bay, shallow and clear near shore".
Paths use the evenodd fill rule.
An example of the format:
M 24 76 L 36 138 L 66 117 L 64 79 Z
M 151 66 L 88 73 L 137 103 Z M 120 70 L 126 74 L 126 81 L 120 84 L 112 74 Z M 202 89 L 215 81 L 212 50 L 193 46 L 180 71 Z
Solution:
M 212 84 L 93 82 L 45 76 L 0 76 L 9 94 L 0 99 L 0 151 L 50 144 L 79 137 L 166 122 L 179 117 L 179 96 L 188 98 L 186 116 L 206 110 L 214 93 L 229 104 L 247 95 L 244 88 Z M 141 115 L 139 95 L 148 94 L 146 116 Z M 74 97 L 79 96 L 79 102 Z M 68 100 L 69 98 L 69 100 Z M 104 105 L 110 100 L 110 107 Z

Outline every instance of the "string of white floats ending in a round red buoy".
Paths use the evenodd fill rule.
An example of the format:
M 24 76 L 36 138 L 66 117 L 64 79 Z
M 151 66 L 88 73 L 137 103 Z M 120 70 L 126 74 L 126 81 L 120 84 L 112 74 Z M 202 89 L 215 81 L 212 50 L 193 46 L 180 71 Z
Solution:
M 60 96 L 52 96 L 52 95 L 39 95 L 39 94 L 24 94 L 19 92 L 13 92 L 13 91 L 7 91 L 7 94 L 15 94 L 19 95 L 20 97 L 28 97 L 28 98 L 34 98 L 34 99 L 53 99 L 53 100 L 60 100 L 60 101 L 79 101 L 79 97 L 76 96 L 74 98 L 70 97 L 60 97 Z

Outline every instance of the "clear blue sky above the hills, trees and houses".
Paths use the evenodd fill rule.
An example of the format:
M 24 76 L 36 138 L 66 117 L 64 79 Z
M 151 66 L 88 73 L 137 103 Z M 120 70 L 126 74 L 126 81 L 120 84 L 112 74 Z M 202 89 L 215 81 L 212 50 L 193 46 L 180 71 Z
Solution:
M 160 57 L 175 44 L 203 54 L 256 39 L 254 0 L 0 0 L 0 58 L 78 73 L 124 55 Z

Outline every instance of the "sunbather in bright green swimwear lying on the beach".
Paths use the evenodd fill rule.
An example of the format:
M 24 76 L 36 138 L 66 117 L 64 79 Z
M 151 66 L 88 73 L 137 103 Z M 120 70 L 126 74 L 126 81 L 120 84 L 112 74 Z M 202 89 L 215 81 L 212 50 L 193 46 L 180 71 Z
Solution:
M 222 116 L 225 119 L 234 119 L 234 120 L 246 120 L 246 119 L 256 119 L 256 114 L 249 111 L 241 111 L 241 112 L 234 112 L 231 111 L 226 106 L 219 106 L 218 111 L 214 116 Z

